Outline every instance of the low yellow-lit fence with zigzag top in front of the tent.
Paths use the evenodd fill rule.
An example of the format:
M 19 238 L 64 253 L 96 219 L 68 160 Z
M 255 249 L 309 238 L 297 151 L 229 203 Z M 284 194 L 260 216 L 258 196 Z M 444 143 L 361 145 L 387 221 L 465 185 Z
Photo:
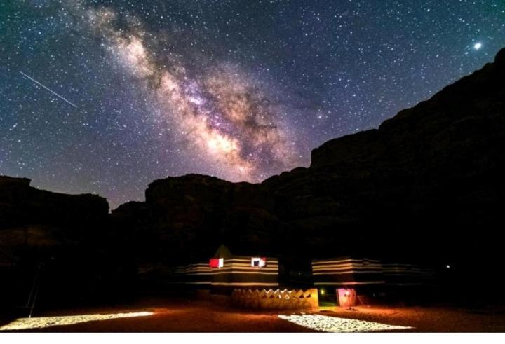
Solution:
M 235 289 L 231 303 L 241 308 L 262 310 L 308 310 L 318 308 L 317 289 Z

